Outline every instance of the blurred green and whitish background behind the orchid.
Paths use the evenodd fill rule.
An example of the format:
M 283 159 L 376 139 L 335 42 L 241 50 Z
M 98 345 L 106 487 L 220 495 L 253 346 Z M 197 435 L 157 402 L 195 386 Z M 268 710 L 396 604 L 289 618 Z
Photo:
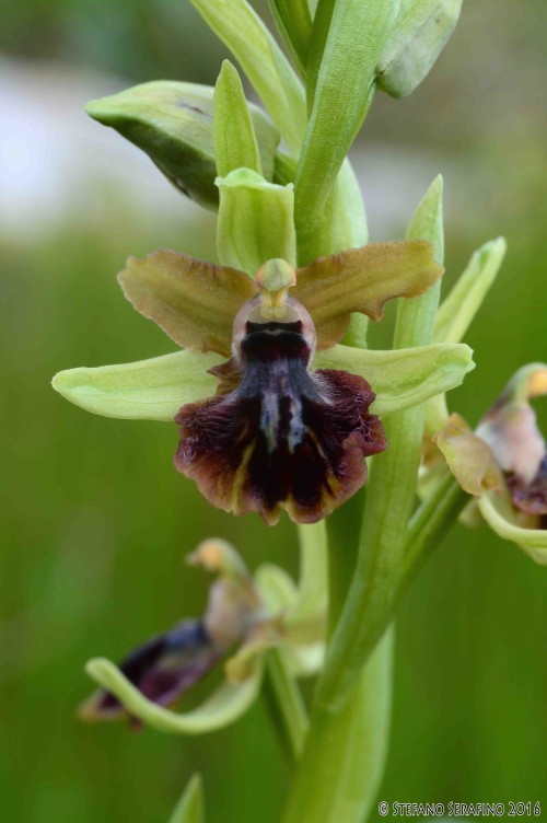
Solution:
M 432 76 L 407 101 L 379 95 L 353 152 L 374 240 L 400 236 L 444 172 L 447 283 L 508 239 L 468 337 L 478 367 L 451 398 L 472 421 L 547 358 L 546 26 L 543 0 L 466 0 Z M 208 581 L 184 565 L 199 540 L 295 570 L 293 531 L 207 507 L 172 468 L 170 425 L 93 417 L 49 387 L 59 369 L 172 350 L 119 293 L 128 254 L 213 256 L 212 216 L 83 104 L 151 79 L 212 83 L 224 50 L 184 0 L 20 0 L 0 48 L 1 819 L 161 823 L 200 770 L 210 820 L 274 823 L 288 775 L 260 704 L 201 739 L 89 727 L 74 708 L 88 658 L 199 614 Z M 457 528 L 399 608 L 382 799 L 539 800 L 547 814 L 546 625 L 545 571 Z

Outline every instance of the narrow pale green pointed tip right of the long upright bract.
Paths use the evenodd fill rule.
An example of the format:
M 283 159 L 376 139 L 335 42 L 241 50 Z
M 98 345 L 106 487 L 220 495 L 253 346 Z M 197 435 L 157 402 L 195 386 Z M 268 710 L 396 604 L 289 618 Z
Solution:
M 505 241 L 498 237 L 473 254 L 467 268 L 441 303 L 435 321 L 437 343 L 459 343 L 463 339 L 496 280 L 505 251 Z

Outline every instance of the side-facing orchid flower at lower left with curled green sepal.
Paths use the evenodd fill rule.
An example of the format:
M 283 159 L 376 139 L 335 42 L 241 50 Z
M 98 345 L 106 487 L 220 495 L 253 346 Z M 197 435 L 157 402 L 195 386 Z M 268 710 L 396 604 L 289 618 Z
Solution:
M 197 734 L 236 720 L 259 693 L 265 656 L 278 648 L 294 676 L 316 673 L 323 659 L 325 603 L 305 612 L 281 568 L 268 564 L 252 578 L 225 541 L 201 543 L 188 557 L 218 576 L 201 618 L 186 619 L 133 650 L 119 665 L 94 659 L 89 674 L 101 689 L 80 708 L 86 720 L 129 716 L 135 726 Z M 230 657 L 232 652 L 232 657 Z M 203 704 L 175 714 L 168 706 L 224 661 L 225 676 Z

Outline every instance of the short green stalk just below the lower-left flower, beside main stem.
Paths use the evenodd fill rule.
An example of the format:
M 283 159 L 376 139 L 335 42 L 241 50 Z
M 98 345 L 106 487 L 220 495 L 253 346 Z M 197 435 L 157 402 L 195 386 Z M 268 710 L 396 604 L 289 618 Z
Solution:
M 268 652 L 266 671 L 275 726 L 289 761 L 295 763 L 304 749 L 309 728 L 304 700 L 289 671 L 282 649 L 271 649 Z M 278 718 L 281 725 L 276 722 Z

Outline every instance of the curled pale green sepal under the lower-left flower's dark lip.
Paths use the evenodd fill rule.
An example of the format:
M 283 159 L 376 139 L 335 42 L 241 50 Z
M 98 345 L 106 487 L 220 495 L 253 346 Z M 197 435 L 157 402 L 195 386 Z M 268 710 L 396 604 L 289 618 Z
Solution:
M 90 677 L 115 695 L 130 715 L 158 731 L 172 734 L 205 734 L 237 720 L 258 695 L 263 661 L 255 658 L 251 670 L 247 680 L 237 684 L 225 681 L 200 706 L 177 715 L 144 697 L 109 660 L 95 658 L 85 666 Z

